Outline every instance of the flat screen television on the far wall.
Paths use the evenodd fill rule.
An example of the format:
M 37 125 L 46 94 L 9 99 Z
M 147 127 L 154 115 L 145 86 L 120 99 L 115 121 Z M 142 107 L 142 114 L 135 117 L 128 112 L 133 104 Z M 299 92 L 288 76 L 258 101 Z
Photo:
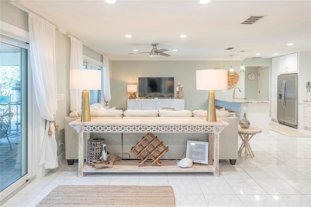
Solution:
M 138 77 L 138 96 L 146 98 L 174 97 L 173 77 Z

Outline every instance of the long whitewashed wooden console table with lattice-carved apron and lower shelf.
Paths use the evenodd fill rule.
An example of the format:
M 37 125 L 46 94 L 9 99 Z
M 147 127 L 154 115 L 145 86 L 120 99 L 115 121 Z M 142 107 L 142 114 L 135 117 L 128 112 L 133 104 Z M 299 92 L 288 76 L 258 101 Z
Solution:
M 219 176 L 219 134 L 228 125 L 227 122 L 218 120 L 216 122 L 207 122 L 206 118 L 161 118 L 161 117 L 128 117 L 128 118 L 92 118 L 89 122 L 79 120 L 69 123 L 78 133 L 79 140 L 79 177 L 84 172 L 93 173 L 112 173 L 116 172 L 214 172 L 214 176 Z M 132 161 L 117 161 L 111 169 L 95 169 L 94 167 L 84 166 L 85 138 L 89 138 L 90 133 L 101 132 L 151 132 L 151 133 L 209 133 L 209 155 L 208 165 L 196 165 L 189 169 L 179 168 L 176 163 L 165 164 L 161 167 L 147 166 L 138 167 L 137 161 L 133 165 Z M 169 161 L 168 161 L 169 162 Z M 120 164 L 121 163 L 121 164 Z M 124 163 L 126 163 L 124 165 Z M 118 166 L 118 164 L 120 164 Z M 116 166 L 116 167 L 115 167 Z M 118 167 L 117 167 L 118 166 Z M 122 167 L 123 166 L 123 167 Z M 167 166 L 167 167 L 166 167 Z

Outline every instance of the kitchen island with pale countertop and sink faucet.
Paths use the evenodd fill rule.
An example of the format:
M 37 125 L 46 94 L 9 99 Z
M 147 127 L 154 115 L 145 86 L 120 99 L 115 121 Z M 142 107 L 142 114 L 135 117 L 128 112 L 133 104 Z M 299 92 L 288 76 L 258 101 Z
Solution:
M 270 103 L 244 98 L 215 98 L 216 105 L 235 111 L 239 120 L 246 113 L 246 118 L 251 122 L 251 126 L 259 127 L 262 133 L 269 133 Z

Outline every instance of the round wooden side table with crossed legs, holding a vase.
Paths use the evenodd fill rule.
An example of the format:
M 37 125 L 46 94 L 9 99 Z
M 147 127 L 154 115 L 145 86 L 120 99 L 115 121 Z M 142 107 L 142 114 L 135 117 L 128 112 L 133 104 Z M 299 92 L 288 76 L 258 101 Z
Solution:
M 240 149 L 238 151 L 238 155 L 241 156 L 243 149 L 245 149 L 245 157 L 247 157 L 248 155 L 250 155 L 252 158 L 255 156 L 251 145 L 249 144 L 249 141 L 251 140 L 251 138 L 254 137 L 254 135 L 261 133 L 261 129 L 258 127 L 249 127 L 247 129 L 241 128 L 239 126 L 238 128 L 238 134 L 240 136 L 240 138 L 242 139 L 242 144 L 240 146 Z

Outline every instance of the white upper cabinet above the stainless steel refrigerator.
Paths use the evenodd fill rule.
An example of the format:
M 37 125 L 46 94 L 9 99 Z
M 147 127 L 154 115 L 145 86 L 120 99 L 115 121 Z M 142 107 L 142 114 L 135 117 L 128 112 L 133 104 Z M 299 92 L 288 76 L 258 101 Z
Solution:
M 281 66 L 279 73 L 298 72 L 298 53 L 280 56 Z

